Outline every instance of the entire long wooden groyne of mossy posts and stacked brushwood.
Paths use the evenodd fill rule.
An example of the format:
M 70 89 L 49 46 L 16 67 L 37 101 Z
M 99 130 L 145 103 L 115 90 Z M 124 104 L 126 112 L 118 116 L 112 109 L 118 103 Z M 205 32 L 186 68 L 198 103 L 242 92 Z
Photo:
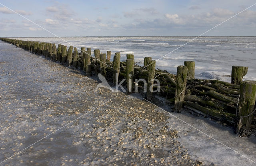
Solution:
M 0 38 L 4 42 L 42 55 L 62 65 L 83 69 L 86 76 L 101 73 L 110 85 L 126 85 L 126 92 L 135 90 L 143 93 L 147 100 L 154 96 L 165 98 L 174 104 L 174 110 L 181 112 L 188 108 L 197 114 L 209 116 L 215 120 L 234 125 L 238 136 L 249 136 L 250 130 L 256 129 L 256 81 L 242 81 L 248 68 L 232 67 L 232 83 L 220 80 L 200 80 L 194 78 L 195 62 L 185 61 L 177 68 L 177 74 L 156 69 L 156 61 L 144 58 L 144 66 L 134 62 L 134 55 L 127 54 L 127 60 L 120 62 L 120 52 L 116 52 L 113 62 L 111 51 L 101 53 L 99 49 L 77 48 L 45 42 L 22 41 Z M 73 51 L 74 50 L 74 51 Z M 156 84 L 158 83 L 158 85 Z

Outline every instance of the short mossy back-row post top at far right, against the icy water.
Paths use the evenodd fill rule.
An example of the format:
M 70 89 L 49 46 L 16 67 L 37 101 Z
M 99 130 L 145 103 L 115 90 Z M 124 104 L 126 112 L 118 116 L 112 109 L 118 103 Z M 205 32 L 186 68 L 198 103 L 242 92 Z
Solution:
M 232 66 L 231 83 L 239 85 L 243 81 L 243 77 L 247 74 L 248 67 Z

